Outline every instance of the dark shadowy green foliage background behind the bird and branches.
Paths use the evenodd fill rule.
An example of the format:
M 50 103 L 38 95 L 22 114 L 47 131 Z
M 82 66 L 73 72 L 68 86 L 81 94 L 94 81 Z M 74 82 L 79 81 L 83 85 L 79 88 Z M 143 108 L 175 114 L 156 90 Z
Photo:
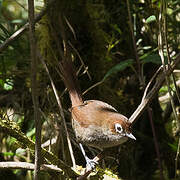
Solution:
M 38 48 L 46 59 L 59 97 L 63 102 L 74 156 L 79 166 L 84 166 L 85 162 L 71 128 L 68 112 L 70 101 L 67 93 L 63 93 L 64 85 L 56 69 L 56 61 L 59 57 L 52 29 L 57 32 L 57 37 L 61 40 L 58 14 L 62 13 L 69 23 L 69 26 L 68 23 L 65 26 L 65 32 L 72 44 L 76 68 L 78 69 L 81 65 L 80 60 L 84 62 L 85 67 L 88 67 L 88 73 L 85 69 L 81 69 L 79 73 L 82 91 L 101 82 L 100 85 L 88 91 L 84 99 L 103 100 L 129 117 L 140 104 L 144 85 L 161 65 L 158 55 L 158 16 L 161 3 L 164 2 L 159 0 L 130 1 L 133 30 L 140 59 L 139 71 L 143 75 L 145 84 L 140 83 L 137 76 L 138 65 L 135 60 L 126 1 L 56 1 L 37 23 Z M 178 0 L 168 0 L 166 3 L 169 51 L 173 56 L 180 48 L 180 4 Z M 40 12 L 43 6 L 42 0 L 36 0 L 36 13 Z M 27 22 L 27 9 L 27 3 L 24 0 L 0 1 L 0 43 L 3 43 Z M 178 70 L 175 77 L 179 82 Z M 0 117 L 9 122 L 15 122 L 23 133 L 34 140 L 30 78 L 30 49 L 28 33 L 25 32 L 0 54 Z M 175 90 L 173 85 L 171 88 Z M 40 63 L 38 93 L 43 122 L 42 142 L 56 137 L 58 140 L 50 150 L 67 164 L 72 165 L 57 102 L 49 78 Z M 150 106 L 153 112 L 163 176 L 164 179 L 174 179 L 175 172 L 179 172 L 179 166 L 175 168 L 178 136 L 174 135 L 176 124 L 174 117 L 171 116 L 170 100 L 169 98 L 163 100 L 166 94 L 165 84 Z M 174 99 L 178 107 L 175 95 Z M 122 179 L 160 179 L 158 158 L 147 112 L 139 118 L 133 129 L 137 141 L 128 141 L 121 147 L 113 148 L 112 155 L 105 159 L 105 165 L 100 164 L 101 167 L 110 169 Z M 0 144 L 0 161 L 34 161 L 32 153 L 28 149 L 23 149 L 12 136 L 0 132 Z M 89 147 L 86 147 L 86 150 L 92 157 L 97 153 L 97 150 Z M 102 172 L 103 175 L 104 173 Z M 102 174 L 99 173 L 99 176 Z M 12 178 L 32 179 L 32 172 L 0 170 L 0 179 Z M 55 179 L 56 176 L 42 174 L 42 179 L 50 178 Z

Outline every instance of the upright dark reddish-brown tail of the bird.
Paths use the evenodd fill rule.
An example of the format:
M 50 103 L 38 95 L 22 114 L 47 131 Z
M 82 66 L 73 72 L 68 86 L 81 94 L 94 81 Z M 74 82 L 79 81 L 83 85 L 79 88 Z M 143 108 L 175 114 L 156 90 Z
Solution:
M 83 99 L 78 85 L 77 77 L 73 69 L 71 60 L 63 60 L 60 62 L 60 71 L 63 76 L 65 86 L 69 91 L 72 107 L 83 104 Z

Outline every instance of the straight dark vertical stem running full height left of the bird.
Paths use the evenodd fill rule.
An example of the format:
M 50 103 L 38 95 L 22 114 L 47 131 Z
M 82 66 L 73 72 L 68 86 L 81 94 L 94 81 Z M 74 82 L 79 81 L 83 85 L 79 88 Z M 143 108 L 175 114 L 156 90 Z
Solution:
M 38 82 L 37 82 L 37 57 L 36 57 L 36 39 L 35 39 L 35 22 L 34 22 L 34 1 L 28 0 L 28 16 L 29 16 L 29 40 L 31 48 L 31 89 L 32 100 L 34 106 L 34 120 L 35 120 L 35 171 L 34 179 L 38 180 L 41 166 L 41 119 L 39 115 L 39 101 L 38 101 Z

